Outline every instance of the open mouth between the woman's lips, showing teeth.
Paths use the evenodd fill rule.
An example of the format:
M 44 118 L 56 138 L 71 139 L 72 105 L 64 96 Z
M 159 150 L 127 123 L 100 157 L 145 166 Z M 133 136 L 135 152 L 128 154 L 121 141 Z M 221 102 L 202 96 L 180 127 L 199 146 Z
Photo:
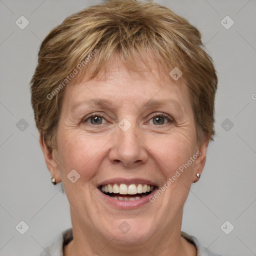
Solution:
M 157 189 L 155 185 L 144 183 L 108 183 L 98 186 L 105 195 L 115 200 L 135 201 L 139 200 Z

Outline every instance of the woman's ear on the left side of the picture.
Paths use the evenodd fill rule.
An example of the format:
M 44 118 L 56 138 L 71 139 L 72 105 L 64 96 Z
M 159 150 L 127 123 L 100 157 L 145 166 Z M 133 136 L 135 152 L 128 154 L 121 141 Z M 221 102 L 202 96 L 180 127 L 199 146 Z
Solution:
M 54 177 L 56 183 L 58 183 L 61 181 L 61 178 L 60 178 L 60 172 L 58 168 L 58 162 L 56 157 L 54 157 L 55 149 L 51 149 L 46 145 L 44 141 L 44 137 L 41 133 L 39 133 L 39 142 L 40 142 L 40 147 L 42 149 L 45 163 L 50 172 L 50 175 L 51 177 Z

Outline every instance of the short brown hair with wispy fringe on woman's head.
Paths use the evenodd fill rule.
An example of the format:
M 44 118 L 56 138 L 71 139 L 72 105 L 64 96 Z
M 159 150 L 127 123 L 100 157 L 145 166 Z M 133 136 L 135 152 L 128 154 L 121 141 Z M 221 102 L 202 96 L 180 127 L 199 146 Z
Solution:
M 97 54 L 86 62 L 95 50 Z M 92 79 L 106 69 L 114 53 L 133 71 L 140 70 L 136 60 L 146 64 L 147 54 L 166 72 L 174 67 L 180 69 L 180 80 L 185 82 L 190 96 L 197 142 L 202 144 L 205 136 L 213 140 L 217 76 L 198 29 L 152 1 L 107 0 L 67 17 L 40 45 L 38 64 L 30 81 L 31 103 L 36 126 L 48 147 L 55 146 L 64 79 L 81 61 L 85 64 L 79 73 L 85 73 L 93 63 L 89 76 Z

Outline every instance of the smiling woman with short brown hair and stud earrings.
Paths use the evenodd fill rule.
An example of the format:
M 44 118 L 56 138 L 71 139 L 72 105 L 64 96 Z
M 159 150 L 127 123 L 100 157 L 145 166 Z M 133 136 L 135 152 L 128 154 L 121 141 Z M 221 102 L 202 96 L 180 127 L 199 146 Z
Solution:
M 55 27 L 31 102 L 72 229 L 41 255 L 217 255 L 180 231 L 214 135 L 216 86 L 200 32 L 159 4 L 109 0 Z

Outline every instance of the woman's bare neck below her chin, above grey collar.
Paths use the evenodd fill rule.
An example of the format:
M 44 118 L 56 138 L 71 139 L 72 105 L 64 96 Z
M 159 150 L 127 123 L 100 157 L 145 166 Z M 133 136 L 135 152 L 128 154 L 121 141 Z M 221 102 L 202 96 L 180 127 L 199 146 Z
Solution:
M 115 237 L 106 239 L 90 224 L 84 227 L 76 223 L 72 216 L 71 220 L 73 240 L 64 247 L 63 256 L 196 256 L 194 245 L 180 237 L 182 212 L 170 225 L 154 233 L 146 242 L 142 244 L 137 240 L 133 246 L 118 245 L 114 242 Z

